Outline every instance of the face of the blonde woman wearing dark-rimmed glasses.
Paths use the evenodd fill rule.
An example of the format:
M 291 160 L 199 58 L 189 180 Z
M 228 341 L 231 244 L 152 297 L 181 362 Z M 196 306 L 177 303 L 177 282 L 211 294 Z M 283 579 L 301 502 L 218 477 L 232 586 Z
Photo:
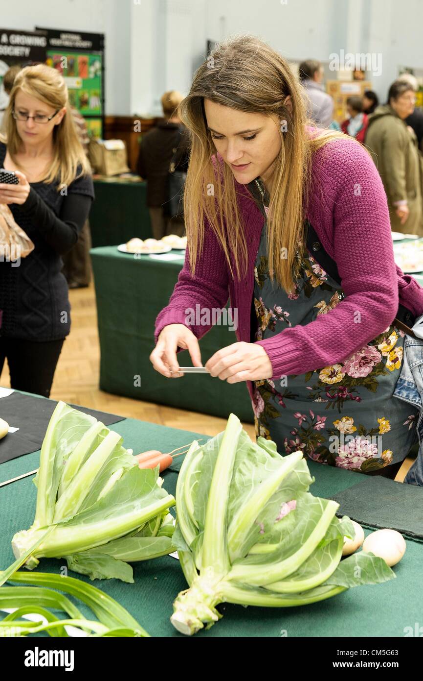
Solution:
M 39 99 L 27 95 L 22 90 L 18 90 L 14 102 L 14 111 L 16 115 L 29 114 L 30 116 L 50 117 L 54 114 L 55 109 L 48 106 L 48 104 L 44 104 Z M 60 109 L 56 116 L 53 116 L 48 123 L 36 123 L 34 118 L 28 118 L 27 121 L 19 120 L 18 118 L 15 121 L 16 129 L 22 142 L 29 146 L 34 146 L 52 138 L 54 126 L 61 122 L 65 111 L 65 108 Z

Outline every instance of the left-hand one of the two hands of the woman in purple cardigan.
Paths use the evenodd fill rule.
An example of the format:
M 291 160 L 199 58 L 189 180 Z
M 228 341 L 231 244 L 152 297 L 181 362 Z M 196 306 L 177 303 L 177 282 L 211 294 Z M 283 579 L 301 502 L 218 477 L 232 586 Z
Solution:
M 150 355 L 150 362 L 156 371 L 168 379 L 178 379 L 183 376 L 183 374 L 177 373 L 179 364 L 176 358 L 176 350 L 178 347 L 188 350 L 193 366 L 203 366 L 199 341 L 192 331 L 184 324 L 168 324 L 161 330 L 156 347 Z

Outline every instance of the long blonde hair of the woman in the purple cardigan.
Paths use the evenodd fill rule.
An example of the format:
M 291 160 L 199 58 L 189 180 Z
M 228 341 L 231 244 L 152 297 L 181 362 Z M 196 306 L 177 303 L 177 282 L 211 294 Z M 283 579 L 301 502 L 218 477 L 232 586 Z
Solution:
M 292 114 L 284 101 L 290 95 Z M 273 164 L 268 225 L 269 272 L 289 292 L 299 240 L 304 243 L 305 205 L 311 184 L 311 160 L 318 148 L 343 133 L 316 129 L 307 119 L 304 95 L 290 65 L 260 38 L 245 33 L 218 44 L 194 74 L 179 116 L 190 131 L 190 161 L 184 191 L 184 216 L 190 270 L 195 271 L 203 249 L 205 219 L 226 255 L 232 276 L 245 276 L 248 247 L 237 205 L 231 168 L 222 163 L 216 173 L 217 150 L 205 118 L 205 98 L 242 112 L 277 116 L 282 146 Z M 316 130 L 307 133 L 306 126 Z M 219 163 L 217 163 L 219 168 Z M 212 188 L 212 191 L 210 191 Z M 212 195 L 210 195 L 212 194 Z M 225 227 L 226 222 L 226 227 Z M 282 258 L 282 249 L 287 257 Z

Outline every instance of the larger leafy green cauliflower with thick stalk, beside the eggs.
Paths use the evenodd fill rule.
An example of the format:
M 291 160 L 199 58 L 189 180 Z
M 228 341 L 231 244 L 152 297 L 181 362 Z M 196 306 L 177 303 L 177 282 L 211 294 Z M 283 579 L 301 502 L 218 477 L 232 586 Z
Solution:
M 314 480 L 303 452 L 281 456 L 272 441 L 252 443 L 234 414 L 224 432 L 192 443 L 176 488 L 173 543 L 189 585 L 173 604 L 178 631 L 211 627 L 223 602 L 307 605 L 395 577 L 373 554 L 341 560 L 352 522 L 309 492 Z

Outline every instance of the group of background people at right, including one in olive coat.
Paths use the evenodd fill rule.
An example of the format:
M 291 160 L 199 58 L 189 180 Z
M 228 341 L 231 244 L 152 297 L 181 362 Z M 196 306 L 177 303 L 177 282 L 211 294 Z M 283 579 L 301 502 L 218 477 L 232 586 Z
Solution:
M 324 91 L 322 65 L 308 59 L 299 65 L 307 93 L 309 117 L 318 127 L 337 127 L 334 102 Z M 386 104 L 371 90 L 348 97 L 348 118 L 341 130 L 365 144 L 388 197 L 392 231 L 423 236 L 423 111 L 416 108 L 418 81 L 403 74 L 389 88 Z

